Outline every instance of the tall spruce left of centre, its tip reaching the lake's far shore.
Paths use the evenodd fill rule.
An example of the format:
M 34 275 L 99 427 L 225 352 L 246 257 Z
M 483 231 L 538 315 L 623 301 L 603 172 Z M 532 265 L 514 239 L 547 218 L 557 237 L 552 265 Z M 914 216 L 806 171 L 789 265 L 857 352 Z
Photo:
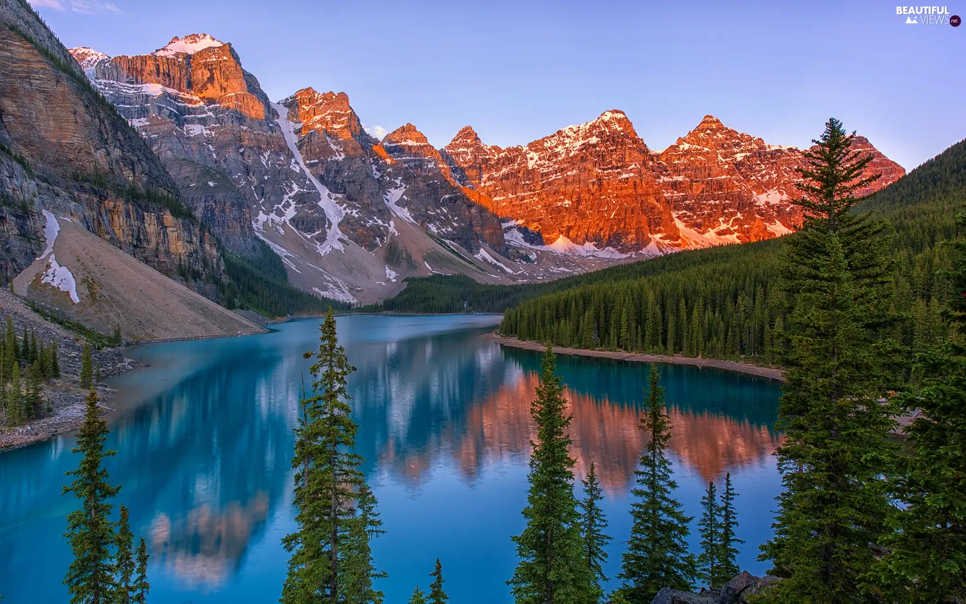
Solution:
M 355 577 L 355 583 L 350 579 L 350 587 L 381 576 L 372 569 L 368 549 L 368 539 L 379 531 L 379 523 L 375 497 L 358 469 L 362 458 L 353 450 L 358 426 L 350 417 L 346 379 L 355 367 L 339 346 L 331 308 L 319 331 L 318 352 L 305 353 L 306 359 L 316 360 L 309 368 L 315 381 L 311 396 L 300 402 L 292 460 L 297 471 L 294 504 L 298 530 L 282 540 L 292 558 L 281 601 L 341 602 L 359 594 L 368 598 L 363 602 L 376 601 L 381 593 L 371 589 L 349 593 L 342 585 L 347 572 Z M 355 600 L 355 604 L 359 602 Z

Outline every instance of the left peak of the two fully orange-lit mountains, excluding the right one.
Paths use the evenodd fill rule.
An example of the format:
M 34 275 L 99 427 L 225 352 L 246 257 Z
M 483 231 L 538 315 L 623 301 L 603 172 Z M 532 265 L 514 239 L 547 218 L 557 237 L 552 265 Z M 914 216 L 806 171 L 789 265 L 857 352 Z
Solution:
M 646 247 L 652 234 L 677 236 L 653 156 L 621 111 L 526 147 L 484 145 L 468 127 L 443 151 L 498 216 L 539 231 L 548 244 L 565 237 L 631 250 Z

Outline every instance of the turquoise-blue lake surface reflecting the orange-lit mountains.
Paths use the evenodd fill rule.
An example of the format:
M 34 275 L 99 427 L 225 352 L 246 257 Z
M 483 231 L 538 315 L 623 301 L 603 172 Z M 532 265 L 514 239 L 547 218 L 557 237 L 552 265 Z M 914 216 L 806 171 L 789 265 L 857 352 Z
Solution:
M 386 602 L 424 590 L 437 557 L 452 602 L 512 602 L 510 536 L 523 529 L 533 425 L 529 403 L 540 355 L 479 336 L 496 316 L 351 316 L 340 341 L 350 380 L 357 452 L 386 533 L 373 543 Z M 132 528 L 149 544 L 154 604 L 276 602 L 294 528 L 293 428 L 301 353 L 316 349 L 318 320 L 267 334 L 136 347 L 151 363 L 113 378 L 107 462 L 123 485 Z M 605 487 L 613 536 L 609 588 L 630 532 L 629 490 L 645 435 L 637 428 L 648 367 L 557 357 L 574 420 L 577 471 L 592 461 Z M 739 493 L 739 562 L 761 574 L 758 544 L 771 534 L 780 491 L 772 453 L 779 387 L 716 369 L 662 365 L 673 425 L 676 496 L 692 515 L 708 480 L 730 472 Z M 310 377 L 310 376 L 309 376 Z M 306 384 L 309 383 L 306 377 Z M 66 602 L 69 563 L 61 496 L 76 467 L 72 436 L 0 453 L 0 593 L 5 604 Z M 692 523 L 696 532 L 696 520 Z M 698 538 L 692 536 L 696 547 Z

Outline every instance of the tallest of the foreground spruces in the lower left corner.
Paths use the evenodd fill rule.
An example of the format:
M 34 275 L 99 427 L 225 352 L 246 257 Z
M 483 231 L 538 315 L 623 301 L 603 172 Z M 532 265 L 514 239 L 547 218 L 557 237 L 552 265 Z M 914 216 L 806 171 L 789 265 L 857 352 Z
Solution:
M 80 502 L 80 509 L 67 516 L 68 531 L 64 536 L 71 544 L 73 561 L 64 584 L 71 594 L 71 604 L 109 604 L 114 596 L 115 583 L 111 557 L 114 523 L 108 519 L 113 505 L 108 501 L 121 487 L 107 482 L 107 470 L 102 462 L 104 457 L 117 451 L 104 450 L 107 422 L 98 415 L 98 393 L 91 390 L 86 402 L 77 446 L 71 449 L 72 453 L 82 453 L 83 457 L 76 470 L 66 473 L 73 476 L 73 481 L 64 486 L 64 494 L 73 493 Z

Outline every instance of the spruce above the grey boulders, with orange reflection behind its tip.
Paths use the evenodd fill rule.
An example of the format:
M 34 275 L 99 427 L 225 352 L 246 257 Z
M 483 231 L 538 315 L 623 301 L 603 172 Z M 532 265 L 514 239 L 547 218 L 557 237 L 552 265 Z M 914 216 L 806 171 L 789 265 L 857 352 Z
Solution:
M 647 604 L 665 587 L 688 590 L 696 575 L 696 561 L 686 541 L 693 518 L 685 516 L 681 504 L 671 497 L 677 483 L 665 455 L 670 418 L 654 364 L 639 428 L 650 438 L 640 457 L 640 469 L 634 473 L 638 483 L 631 492 L 637 500 L 631 503 L 634 526 L 617 575 L 624 582 L 621 595 L 630 604 Z

